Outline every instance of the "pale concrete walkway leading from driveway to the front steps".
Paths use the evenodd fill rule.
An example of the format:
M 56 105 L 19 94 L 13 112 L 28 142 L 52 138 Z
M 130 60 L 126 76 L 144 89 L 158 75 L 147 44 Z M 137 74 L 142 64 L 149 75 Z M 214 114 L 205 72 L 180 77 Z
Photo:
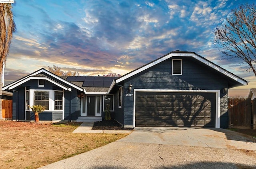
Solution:
M 120 134 L 131 133 L 133 130 L 92 130 L 94 122 L 83 122 L 73 133 L 108 133 Z

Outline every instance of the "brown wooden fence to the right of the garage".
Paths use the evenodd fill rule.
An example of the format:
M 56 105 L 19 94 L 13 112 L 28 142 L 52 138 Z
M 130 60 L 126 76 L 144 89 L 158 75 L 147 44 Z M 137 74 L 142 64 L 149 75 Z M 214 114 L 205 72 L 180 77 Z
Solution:
M 229 128 L 256 129 L 256 99 L 228 98 Z

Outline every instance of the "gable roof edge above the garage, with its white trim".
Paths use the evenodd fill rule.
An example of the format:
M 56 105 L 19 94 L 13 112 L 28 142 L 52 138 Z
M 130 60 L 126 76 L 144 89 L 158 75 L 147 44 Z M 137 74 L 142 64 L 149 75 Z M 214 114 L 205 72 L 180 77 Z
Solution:
M 131 71 L 130 73 L 127 73 L 127 74 L 119 77 L 118 79 L 115 79 L 112 82 L 108 92 L 110 92 L 112 90 L 112 88 L 114 87 L 114 85 L 116 83 L 120 83 L 120 82 L 122 82 L 122 81 L 124 81 L 124 80 L 126 80 L 126 79 L 128 79 L 128 78 L 130 78 L 130 77 L 132 77 L 132 76 L 134 76 L 134 75 L 136 75 L 136 74 L 138 74 L 138 73 L 140 73 L 140 72 L 142 72 L 142 71 L 144 71 L 144 70 L 146 70 L 146 69 L 148 69 L 148 68 L 150 68 L 150 67 L 152 67 L 152 66 L 154 66 L 154 65 L 156 65 L 160 62 L 162 62 L 162 61 L 165 61 L 165 60 L 167 60 L 171 57 L 177 57 L 177 56 L 178 57 L 193 57 L 194 59 L 204 63 L 208 67 L 211 67 L 212 69 L 218 71 L 219 73 L 222 73 L 223 75 L 233 79 L 237 83 L 240 83 L 241 85 L 248 85 L 248 81 L 234 75 L 233 73 L 227 71 L 226 69 L 223 69 L 222 67 L 216 65 L 215 63 L 209 61 L 208 59 L 205 59 L 204 57 L 202 57 L 202 56 L 200 56 L 200 55 L 198 55 L 194 52 L 176 50 L 176 51 L 172 51 L 170 53 L 167 53 L 166 55 L 164 55 L 164 56 L 162 56 L 162 57 L 160 57 L 160 58 L 158 58 L 158 59 L 156 59 L 156 60 L 154 60 L 150 63 L 147 63 L 146 65 L 143 65 L 142 67 L 139 67 L 138 69 L 135 69 L 134 71 Z

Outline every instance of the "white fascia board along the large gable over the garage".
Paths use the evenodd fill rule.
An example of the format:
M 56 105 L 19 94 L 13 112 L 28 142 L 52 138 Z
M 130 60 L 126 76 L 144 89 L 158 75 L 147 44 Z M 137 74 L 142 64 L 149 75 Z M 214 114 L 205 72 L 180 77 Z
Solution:
M 195 55 L 194 53 L 170 53 L 169 55 L 166 55 L 165 57 L 162 57 L 161 59 L 158 59 L 158 60 L 156 60 L 156 61 L 154 61 L 154 62 L 152 62 L 152 63 L 150 63 L 150 64 L 148 64 L 144 67 L 141 67 L 140 69 L 138 69 L 138 70 L 136 70 L 132 73 L 129 73 L 128 75 L 126 75 L 124 77 L 121 77 L 120 79 L 117 79 L 116 83 L 124 81 L 125 79 L 127 79 L 129 77 L 132 77 L 132 76 L 136 75 L 137 73 L 140 73 L 140 72 L 142 72 L 142 71 L 144 71 L 144 70 L 146 70 L 146 69 L 148 69 L 148 68 L 150 68 L 150 67 L 152 67 L 152 66 L 154 66 L 154 65 L 156 65 L 156 64 L 158 64 L 162 61 L 165 61 L 166 59 L 169 59 L 169 58 L 173 57 L 173 56 L 194 57 L 198 61 L 201 61 L 202 63 L 212 67 L 213 69 L 215 69 L 215 70 L 219 71 L 220 73 L 230 77 L 231 79 L 234 79 L 235 81 L 241 83 L 242 85 L 247 85 L 246 81 L 243 81 L 243 80 L 239 79 L 237 76 L 228 73 L 224 69 L 222 69 L 220 67 L 217 67 L 216 65 L 210 63 L 209 61 L 203 59 L 202 57 L 199 57 L 198 55 Z

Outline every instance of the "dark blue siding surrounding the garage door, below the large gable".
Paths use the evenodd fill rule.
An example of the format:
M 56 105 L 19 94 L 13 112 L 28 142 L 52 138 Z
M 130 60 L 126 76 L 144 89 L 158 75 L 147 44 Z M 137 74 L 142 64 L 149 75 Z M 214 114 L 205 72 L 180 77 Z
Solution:
M 173 57 L 172 59 L 175 59 Z M 124 124 L 133 124 L 133 97 L 126 96 L 128 86 L 133 89 L 172 89 L 172 90 L 222 90 L 228 87 L 228 79 L 219 72 L 206 67 L 192 57 L 179 57 L 183 59 L 183 75 L 172 75 L 172 59 L 158 63 L 145 71 L 126 79 L 124 88 Z M 220 96 L 220 127 L 228 127 L 228 94 Z

